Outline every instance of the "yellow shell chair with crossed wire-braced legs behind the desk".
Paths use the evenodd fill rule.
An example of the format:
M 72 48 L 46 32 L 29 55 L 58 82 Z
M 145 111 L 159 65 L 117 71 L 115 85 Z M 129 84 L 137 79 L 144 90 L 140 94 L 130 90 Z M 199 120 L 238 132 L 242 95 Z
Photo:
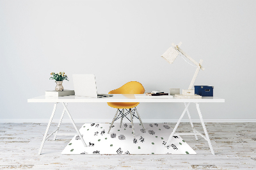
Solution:
M 124 84 L 122 87 L 118 88 L 118 89 L 114 89 L 112 91 L 109 91 L 109 94 L 143 94 L 145 92 L 145 89 L 143 88 L 142 84 L 140 84 L 140 82 L 136 82 L 136 81 L 131 81 L 131 82 L 127 82 L 126 84 Z M 140 114 L 138 113 L 136 106 L 140 104 L 139 102 L 108 102 L 108 105 L 110 107 L 116 108 L 116 114 L 115 117 L 113 118 L 113 121 L 109 127 L 108 133 L 111 130 L 111 128 L 113 127 L 113 123 L 114 121 L 118 120 L 119 118 L 121 118 L 121 122 L 120 122 L 120 127 L 122 126 L 122 121 L 123 118 L 127 118 L 126 115 L 130 113 L 131 116 L 131 120 L 129 120 L 129 118 L 127 118 L 129 121 L 131 121 L 132 123 L 132 132 L 133 135 L 135 137 L 135 133 L 134 133 L 134 127 L 133 127 L 133 118 L 136 117 L 140 120 L 140 123 L 143 127 L 143 129 L 145 130 L 141 118 L 140 118 Z M 132 109 L 134 107 L 134 109 Z M 129 109 L 129 111 L 127 111 L 127 109 Z M 126 110 L 127 112 L 124 113 L 124 110 Z M 137 112 L 137 116 L 135 116 L 135 111 Z M 119 112 L 119 114 L 118 114 Z M 117 116 L 118 114 L 118 116 Z M 116 117 L 117 116 L 117 117 Z

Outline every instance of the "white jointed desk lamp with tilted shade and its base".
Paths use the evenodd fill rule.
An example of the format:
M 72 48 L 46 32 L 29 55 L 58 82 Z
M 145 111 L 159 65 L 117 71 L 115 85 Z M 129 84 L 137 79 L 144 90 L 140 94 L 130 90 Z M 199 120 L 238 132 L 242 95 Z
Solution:
M 196 72 L 193 76 L 193 79 L 189 85 L 189 88 L 182 89 L 182 95 L 175 95 L 175 97 L 177 97 L 177 98 L 202 98 L 199 95 L 195 95 L 195 90 L 192 88 L 193 88 L 193 84 L 196 80 L 196 76 L 199 73 L 199 70 L 201 69 L 204 71 L 204 67 L 202 66 L 203 60 L 200 59 L 199 63 L 197 63 L 193 58 L 191 58 L 182 49 L 180 49 L 181 44 L 182 44 L 182 42 L 180 42 L 178 45 L 175 45 L 174 43 L 172 43 L 173 47 L 170 47 L 168 50 L 166 50 L 166 52 L 164 52 L 164 54 L 161 57 L 166 59 L 166 61 L 168 63 L 172 64 L 173 61 L 177 58 L 177 56 L 181 53 L 184 56 L 186 56 L 186 58 L 190 59 L 197 66 L 197 68 L 196 68 Z

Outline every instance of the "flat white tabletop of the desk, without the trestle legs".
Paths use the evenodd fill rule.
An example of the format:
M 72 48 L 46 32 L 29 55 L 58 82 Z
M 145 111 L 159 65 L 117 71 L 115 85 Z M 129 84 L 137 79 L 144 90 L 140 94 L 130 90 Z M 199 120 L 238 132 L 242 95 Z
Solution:
M 164 99 L 152 99 L 152 98 L 135 98 L 134 94 L 115 94 L 113 97 L 106 98 L 91 98 L 91 97 L 77 97 L 77 96 L 65 96 L 65 97 L 35 97 L 29 98 L 28 102 L 42 102 L 42 103 L 105 103 L 105 102 L 144 102 L 144 103 L 180 103 L 180 102 L 196 102 L 196 103 L 216 103 L 225 102 L 225 99 L 218 97 L 202 97 L 202 98 L 164 98 Z

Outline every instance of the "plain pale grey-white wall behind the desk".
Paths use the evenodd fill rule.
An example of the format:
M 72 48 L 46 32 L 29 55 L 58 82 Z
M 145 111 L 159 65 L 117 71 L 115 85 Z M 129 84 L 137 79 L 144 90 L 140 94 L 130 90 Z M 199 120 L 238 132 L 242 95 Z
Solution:
M 28 103 L 64 71 L 94 73 L 99 93 L 139 81 L 146 91 L 188 89 L 195 72 L 160 58 L 171 43 L 196 61 L 195 85 L 214 86 L 223 104 L 201 104 L 206 119 L 255 119 L 256 1 L 0 0 L 0 118 L 48 119 L 52 104 Z M 70 104 L 75 119 L 111 119 L 107 104 Z M 140 104 L 145 119 L 177 119 L 183 104 Z M 61 107 L 58 108 L 61 111 Z M 195 105 L 190 111 L 195 113 Z M 198 118 L 193 114 L 193 118 Z

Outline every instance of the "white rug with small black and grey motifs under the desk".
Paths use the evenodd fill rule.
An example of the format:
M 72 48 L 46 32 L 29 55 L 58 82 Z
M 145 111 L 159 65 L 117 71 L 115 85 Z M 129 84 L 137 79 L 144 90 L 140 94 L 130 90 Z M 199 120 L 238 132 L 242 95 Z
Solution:
M 165 146 L 172 128 L 168 123 L 114 123 L 109 134 L 110 123 L 84 123 L 79 132 L 87 145 L 84 147 L 75 135 L 61 154 L 196 154 L 179 136 L 173 136 Z

